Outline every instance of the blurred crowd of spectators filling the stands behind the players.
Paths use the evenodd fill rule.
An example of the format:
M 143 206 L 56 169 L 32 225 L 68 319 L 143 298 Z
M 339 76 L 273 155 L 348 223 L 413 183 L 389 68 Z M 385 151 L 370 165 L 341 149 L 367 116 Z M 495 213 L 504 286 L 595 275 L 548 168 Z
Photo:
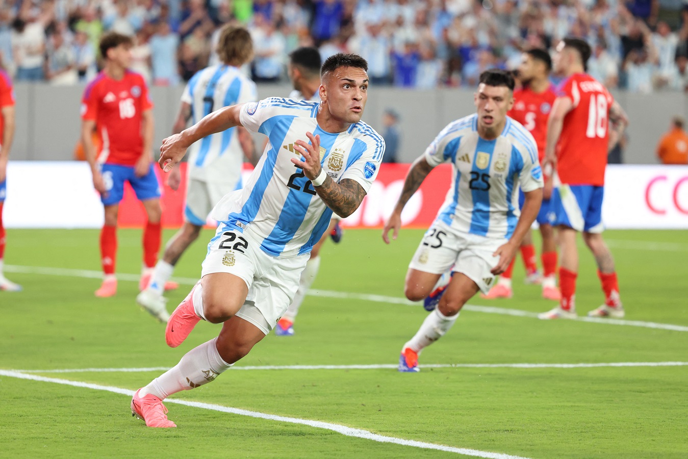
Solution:
M 98 39 L 135 37 L 132 70 L 175 85 L 216 61 L 219 28 L 246 25 L 258 82 L 286 81 L 288 54 L 356 52 L 376 85 L 473 86 L 488 67 L 564 36 L 593 47 L 589 71 L 630 92 L 688 89 L 687 0 L 4 0 L 0 63 L 15 81 L 89 81 Z

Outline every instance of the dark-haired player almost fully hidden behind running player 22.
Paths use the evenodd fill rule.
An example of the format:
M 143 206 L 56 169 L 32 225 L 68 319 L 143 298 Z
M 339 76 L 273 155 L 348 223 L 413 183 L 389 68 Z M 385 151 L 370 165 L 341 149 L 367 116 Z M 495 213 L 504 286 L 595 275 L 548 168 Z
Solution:
M 320 52 L 316 47 L 300 47 L 289 55 L 289 78 L 294 85 L 294 91 L 289 95 L 292 99 L 306 99 L 313 102 L 320 101 Z M 310 94 L 310 96 L 309 96 Z M 341 228 L 338 224 L 338 217 L 332 215 L 330 227 L 323 234 L 318 242 L 310 251 L 310 259 L 305 264 L 305 268 L 299 279 L 299 290 L 294 295 L 292 303 L 275 327 L 275 334 L 279 337 L 291 337 L 294 334 L 294 321 L 301 303 L 305 299 L 305 294 L 313 284 L 315 277 L 320 269 L 320 249 L 327 239 L 327 235 L 332 235 L 334 242 L 341 240 Z

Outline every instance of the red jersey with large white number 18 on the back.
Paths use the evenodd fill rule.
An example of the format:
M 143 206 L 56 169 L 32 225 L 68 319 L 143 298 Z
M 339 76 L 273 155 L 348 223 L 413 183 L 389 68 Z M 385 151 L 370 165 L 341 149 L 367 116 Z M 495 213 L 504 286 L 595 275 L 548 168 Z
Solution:
M 573 103 L 563 119 L 557 142 L 557 173 L 561 183 L 603 185 L 612 94 L 592 76 L 574 74 L 561 83 L 557 97 L 568 97 Z

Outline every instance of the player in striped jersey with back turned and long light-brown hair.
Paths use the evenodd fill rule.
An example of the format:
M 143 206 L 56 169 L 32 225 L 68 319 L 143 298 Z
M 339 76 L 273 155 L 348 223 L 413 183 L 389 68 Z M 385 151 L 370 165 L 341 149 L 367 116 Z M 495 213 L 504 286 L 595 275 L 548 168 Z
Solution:
M 253 54 L 248 30 L 226 26 L 219 36 L 217 54 L 222 64 L 201 70 L 186 85 L 173 134 L 183 131 L 191 118 L 200 120 L 222 107 L 257 100 L 255 83 L 239 70 Z M 184 250 L 198 237 L 208 213 L 224 195 L 241 188 L 244 156 L 254 165 L 259 159 L 255 155 L 253 138 L 243 127 L 227 129 L 195 142 L 189 153 L 184 225 L 167 243 L 147 287 L 136 297 L 136 301 L 154 315 L 155 311 L 166 309 L 162 297 L 165 284 Z M 172 189 L 178 189 L 181 182 L 178 167 L 172 170 L 167 182 Z

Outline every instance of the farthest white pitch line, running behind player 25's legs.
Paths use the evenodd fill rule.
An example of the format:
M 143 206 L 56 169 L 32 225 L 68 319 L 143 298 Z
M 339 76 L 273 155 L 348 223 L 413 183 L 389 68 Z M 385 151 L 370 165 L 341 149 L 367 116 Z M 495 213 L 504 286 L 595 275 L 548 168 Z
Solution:
M 5 270 L 8 273 L 24 273 L 24 274 L 40 274 L 40 275 L 54 275 L 54 276 L 67 276 L 67 277 L 88 277 L 91 279 L 102 279 L 103 273 L 94 270 L 82 270 L 82 269 L 70 269 L 70 268 L 45 268 L 41 266 L 17 266 L 17 265 L 6 265 Z M 138 282 L 140 275 L 136 274 L 118 274 L 117 278 L 123 281 L 135 281 Z M 173 277 L 173 281 L 177 281 L 179 284 L 193 286 L 198 279 L 191 279 L 190 277 Z M 374 301 L 376 303 L 391 303 L 391 304 L 402 304 L 407 306 L 418 306 L 418 303 L 413 303 L 405 298 L 400 297 L 386 297 L 384 295 L 370 295 L 367 293 L 354 293 L 354 292 L 336 292 L 334 290 L 308 290 L 308 294 L 312 297 L 325 297 L 325 298 L 341 298 L 341 299 L 358 299 L 363 301 Z M 503 314 L 509 316 L 517 317 L 530 317 L 537 319 L 536 312 L 518 310 L 518 309 L 508 309 L 508 308 L 496 308 L 495 306 L 479 306 L 475 304 L 464 305 L 464 310 L 473 312 L 486 312 L 488 314 Z M 674 332 L 688 332 L 688 326 L 686 325 L 674 325 L 672 323 L 656 323 L 656 322 L 645 322 L 645 321 L 629 321 L 625 319 L 602 319 L 599 317 L 577 317 L 574 319 L 580 322 L 591 322 L 591 323 L 603 323 L 607 325 L 626 325 L 631 327 L 643 327 L 643 328 L 655 328 L 658 330 L 671 330 Z

